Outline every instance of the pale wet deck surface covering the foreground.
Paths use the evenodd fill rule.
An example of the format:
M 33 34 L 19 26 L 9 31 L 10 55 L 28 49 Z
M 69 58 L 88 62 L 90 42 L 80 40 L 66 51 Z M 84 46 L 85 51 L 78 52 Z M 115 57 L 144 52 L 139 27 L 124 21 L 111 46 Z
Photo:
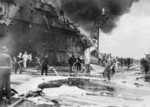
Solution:
M 30 97 L 18 107 L 149 107 L 150 84 L 136 79 L 143 76 L 139 70 L 118 72 L 110 82 L 101 76 L 56 77 L 31 73 L 12 74 L 12 88 L 22 94 L 44 84 L 44 97 Z

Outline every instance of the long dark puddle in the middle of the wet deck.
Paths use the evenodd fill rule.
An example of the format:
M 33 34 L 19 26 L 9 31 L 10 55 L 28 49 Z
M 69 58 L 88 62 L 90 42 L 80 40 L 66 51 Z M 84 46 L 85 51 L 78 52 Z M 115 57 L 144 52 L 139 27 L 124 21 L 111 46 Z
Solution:
M 113 87 L 101 85 L 98 82 L 95 83 L 92 82 L 90 79 L 83 79 L 83 78 L 68 78 L 66 80 L 50 81 L 50 82 L 42 83 L 38 87 L 41 89 L 56 88 L 64 84 L 70 87 L 75 86 L 80 89 L 83 89 L 89 92 L 87 93 L 87 95 L 93 95 L 93 96 L 114 96 L 115 95 L 115 89 Z

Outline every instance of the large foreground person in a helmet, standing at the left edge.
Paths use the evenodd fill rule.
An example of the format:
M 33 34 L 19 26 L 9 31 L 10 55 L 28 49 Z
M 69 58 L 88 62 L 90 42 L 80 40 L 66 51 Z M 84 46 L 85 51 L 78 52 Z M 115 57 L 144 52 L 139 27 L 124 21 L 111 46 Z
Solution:
M 11 58 L 6 52 L 8 51 L 6 46 L 0 48 L 0 100 L 2 100 L 2 93 L 6 91 L 6 99 L 10 103 L 11 101 L 11 89 L 10 89 L 10 75 L 12 69 Z

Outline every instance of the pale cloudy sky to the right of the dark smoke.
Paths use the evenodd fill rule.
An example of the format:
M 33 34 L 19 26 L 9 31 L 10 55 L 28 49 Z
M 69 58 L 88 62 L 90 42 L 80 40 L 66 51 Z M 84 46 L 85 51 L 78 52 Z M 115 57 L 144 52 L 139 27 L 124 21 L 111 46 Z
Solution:
M 100 52 L 136 59 L 150 53 L 150 0 L 134 3 L 111 33 L 100 32 Z

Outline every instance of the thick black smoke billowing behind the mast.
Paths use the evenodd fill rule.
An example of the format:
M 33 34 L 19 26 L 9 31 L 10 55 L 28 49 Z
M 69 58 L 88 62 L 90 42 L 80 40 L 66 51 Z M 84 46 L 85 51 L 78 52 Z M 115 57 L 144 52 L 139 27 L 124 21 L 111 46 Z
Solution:
M 139 0 L 61 0 L 61 8 L 65 15 L 90 32 L 97 12 L 105 8 L 109 13 L 108 21 L 102 27 L 103 32 L 109 33 L 116 27 L 118 18 L 129 12 L 134 2 Z

